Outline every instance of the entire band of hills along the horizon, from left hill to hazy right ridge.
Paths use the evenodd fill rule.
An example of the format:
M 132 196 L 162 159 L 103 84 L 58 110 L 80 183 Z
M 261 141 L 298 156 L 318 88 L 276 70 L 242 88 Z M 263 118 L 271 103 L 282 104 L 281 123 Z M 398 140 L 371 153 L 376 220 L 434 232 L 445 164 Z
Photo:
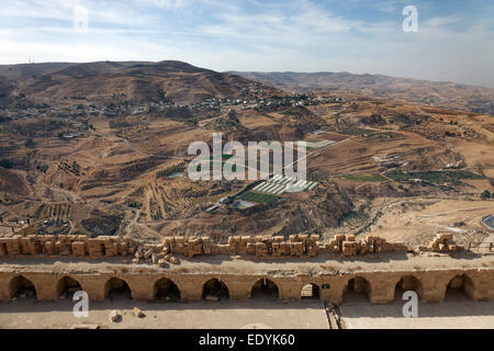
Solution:
M 55 103 L 69 99 L 94 103 L 170 99 L 186 104 L 210 98 L 247 98 L 246 94 L 252 87 L 267 93 L 279 93 L 278 89 L 360 93 L 494 115 L 492 88 L 382 75 L 237 71 L 222 73 L 176 60 L 0 66 L 0 107 L 11 104 Z

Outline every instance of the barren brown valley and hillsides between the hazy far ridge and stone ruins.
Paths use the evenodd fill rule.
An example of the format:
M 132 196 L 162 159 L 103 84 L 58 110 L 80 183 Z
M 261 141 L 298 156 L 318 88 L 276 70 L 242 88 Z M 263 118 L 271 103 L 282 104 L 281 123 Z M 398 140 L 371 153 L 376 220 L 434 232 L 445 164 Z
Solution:
M 480 220 L 494 213 L 493 117 L 460 103 L 458 89 L 448 93 L 460 102 L 439 107 L 367 90 L 289 94 L 178 61 L 4 66 L 0 81 L 5 234 L 29 222 L 40 234 L 145 242 L 313 233 L 418 246 L 450 231 L 469 246 L 492 235 Z M 312 143 L 317 186 L 274 196 L 251 181 L 190 180 L 189 145 L 215 132 Z

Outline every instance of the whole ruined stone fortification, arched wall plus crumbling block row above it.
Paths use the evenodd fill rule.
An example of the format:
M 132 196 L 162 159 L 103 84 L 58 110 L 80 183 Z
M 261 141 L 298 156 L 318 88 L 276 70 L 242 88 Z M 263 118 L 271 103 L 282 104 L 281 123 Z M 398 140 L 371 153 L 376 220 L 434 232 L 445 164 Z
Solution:
M 460 249 L 451 236 L 438 235 L 424 250 L 449 253 Z M 86 291 L 94 301 L 104 299 L 114 290 L 126 291 L 130 297 L 146 301 L 217 301 L 268 294 L 279 298 L 312 296 L 339 304 L 346 294 L 363 294 L 372 303 L 384 304 L 393 302 L 400 292 L 408 290 L 416 291 L 423 302 L 440 302 L 450 290 L 461 291 L 472 299 L 494 299 L 494 270 L 487 268 L 485 261 L 482 264 L 479 262 L 478 267 L 482 265 L 480 269 L 460 269 L 454 263 L 456 267 L 442 265 L 450 269 L 436 267 L 428 270 L 411 268 L 402 271 L 359 272 L 336 270 L 315 274 L 296 273 L 296 270 L 285 269 L 285 263 L 274 263 L 278 269 L 270 271 L 259 272 L 252 269 L 250 273 L 243 274 L 215 269 L 209 269 L 204 273 L 204 269 L 177 265 L 165 269 L 166 262 L 180 262 L 176 256 L 182 256 L 190 265 L 200 264 L 193 263 L 194 257 L 207 260 L 213 254 L 256 257 L 260 262 L 262 259 L 278 262 L 277 258 L 284 258 L 290 262 L 290 258 L 314 258 L 323 253 L 349 258 L 407 251 L 412 250 L 403 244 L 390 244 L 371 236 L 357 240 L 351 235 L 338 235 L 328 242 L 322 242 L 317 235 L 292 235 L 289 241 L 283 237 L 234 236 L 224 245 L 216 245 L 207 237 L 167 237 L 160 245 L 139 245 L 131 236 L 88 238 L 75 235 L 12 235 L 0 238 L 0 257 L 5 259 L 5 263 L 0 264 L 0 299 L 9 301 L 18 294 L 24 295 L 20 292 L 27 291 L 41 301 L 50 301 L 77 290 Z M 132 263 L 148 262 L 157 265 L 131 265 L 127 260 L 122 260 L 123 267 L 101 269 L 101 265 L 91 261 L 131 254 L 135 257 Z M 86 262 L 91 269 L 75 270 L 74 265 L 64 263 L 52 271 L 46 264 L 43 264 L 43 269 L 35 263 L 15 264 L 15 258 L 19 257 L 32 257 L 34 262 L 36 259 L 45 260 L 57 256 L 83 259 L 86 261 L 81 262 Z M 444 259 L 454 261 L 449 257 Z M 316 265 L 321 264 L 314 263 Z M 139 269 L 136 270 L 136 267 Z

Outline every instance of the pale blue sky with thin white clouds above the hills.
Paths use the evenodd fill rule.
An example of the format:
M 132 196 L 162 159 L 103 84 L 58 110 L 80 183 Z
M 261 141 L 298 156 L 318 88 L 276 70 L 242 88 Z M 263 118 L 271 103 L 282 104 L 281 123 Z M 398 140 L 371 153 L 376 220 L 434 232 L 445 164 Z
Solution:
M 403 29 L 409 5 L 417 32 Z M 9 0 L 0 8 L 0 64 L 167 59 L 218 71 L 348 71 L 494 88 L 494 1 Z

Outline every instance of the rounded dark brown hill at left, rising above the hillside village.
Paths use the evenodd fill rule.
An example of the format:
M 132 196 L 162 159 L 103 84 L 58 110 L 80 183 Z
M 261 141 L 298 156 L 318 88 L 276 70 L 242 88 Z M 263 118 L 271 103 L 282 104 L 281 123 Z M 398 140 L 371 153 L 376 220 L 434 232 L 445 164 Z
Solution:
M 37 103 L 74 98 L 93 102 L 166 98 L 191 103 L 213 97 L 238 98 L 252 86 L 261 89 L 260 83 L 236 75 L 171 60 L 0 66 L 3 104 L 21 98 Z

